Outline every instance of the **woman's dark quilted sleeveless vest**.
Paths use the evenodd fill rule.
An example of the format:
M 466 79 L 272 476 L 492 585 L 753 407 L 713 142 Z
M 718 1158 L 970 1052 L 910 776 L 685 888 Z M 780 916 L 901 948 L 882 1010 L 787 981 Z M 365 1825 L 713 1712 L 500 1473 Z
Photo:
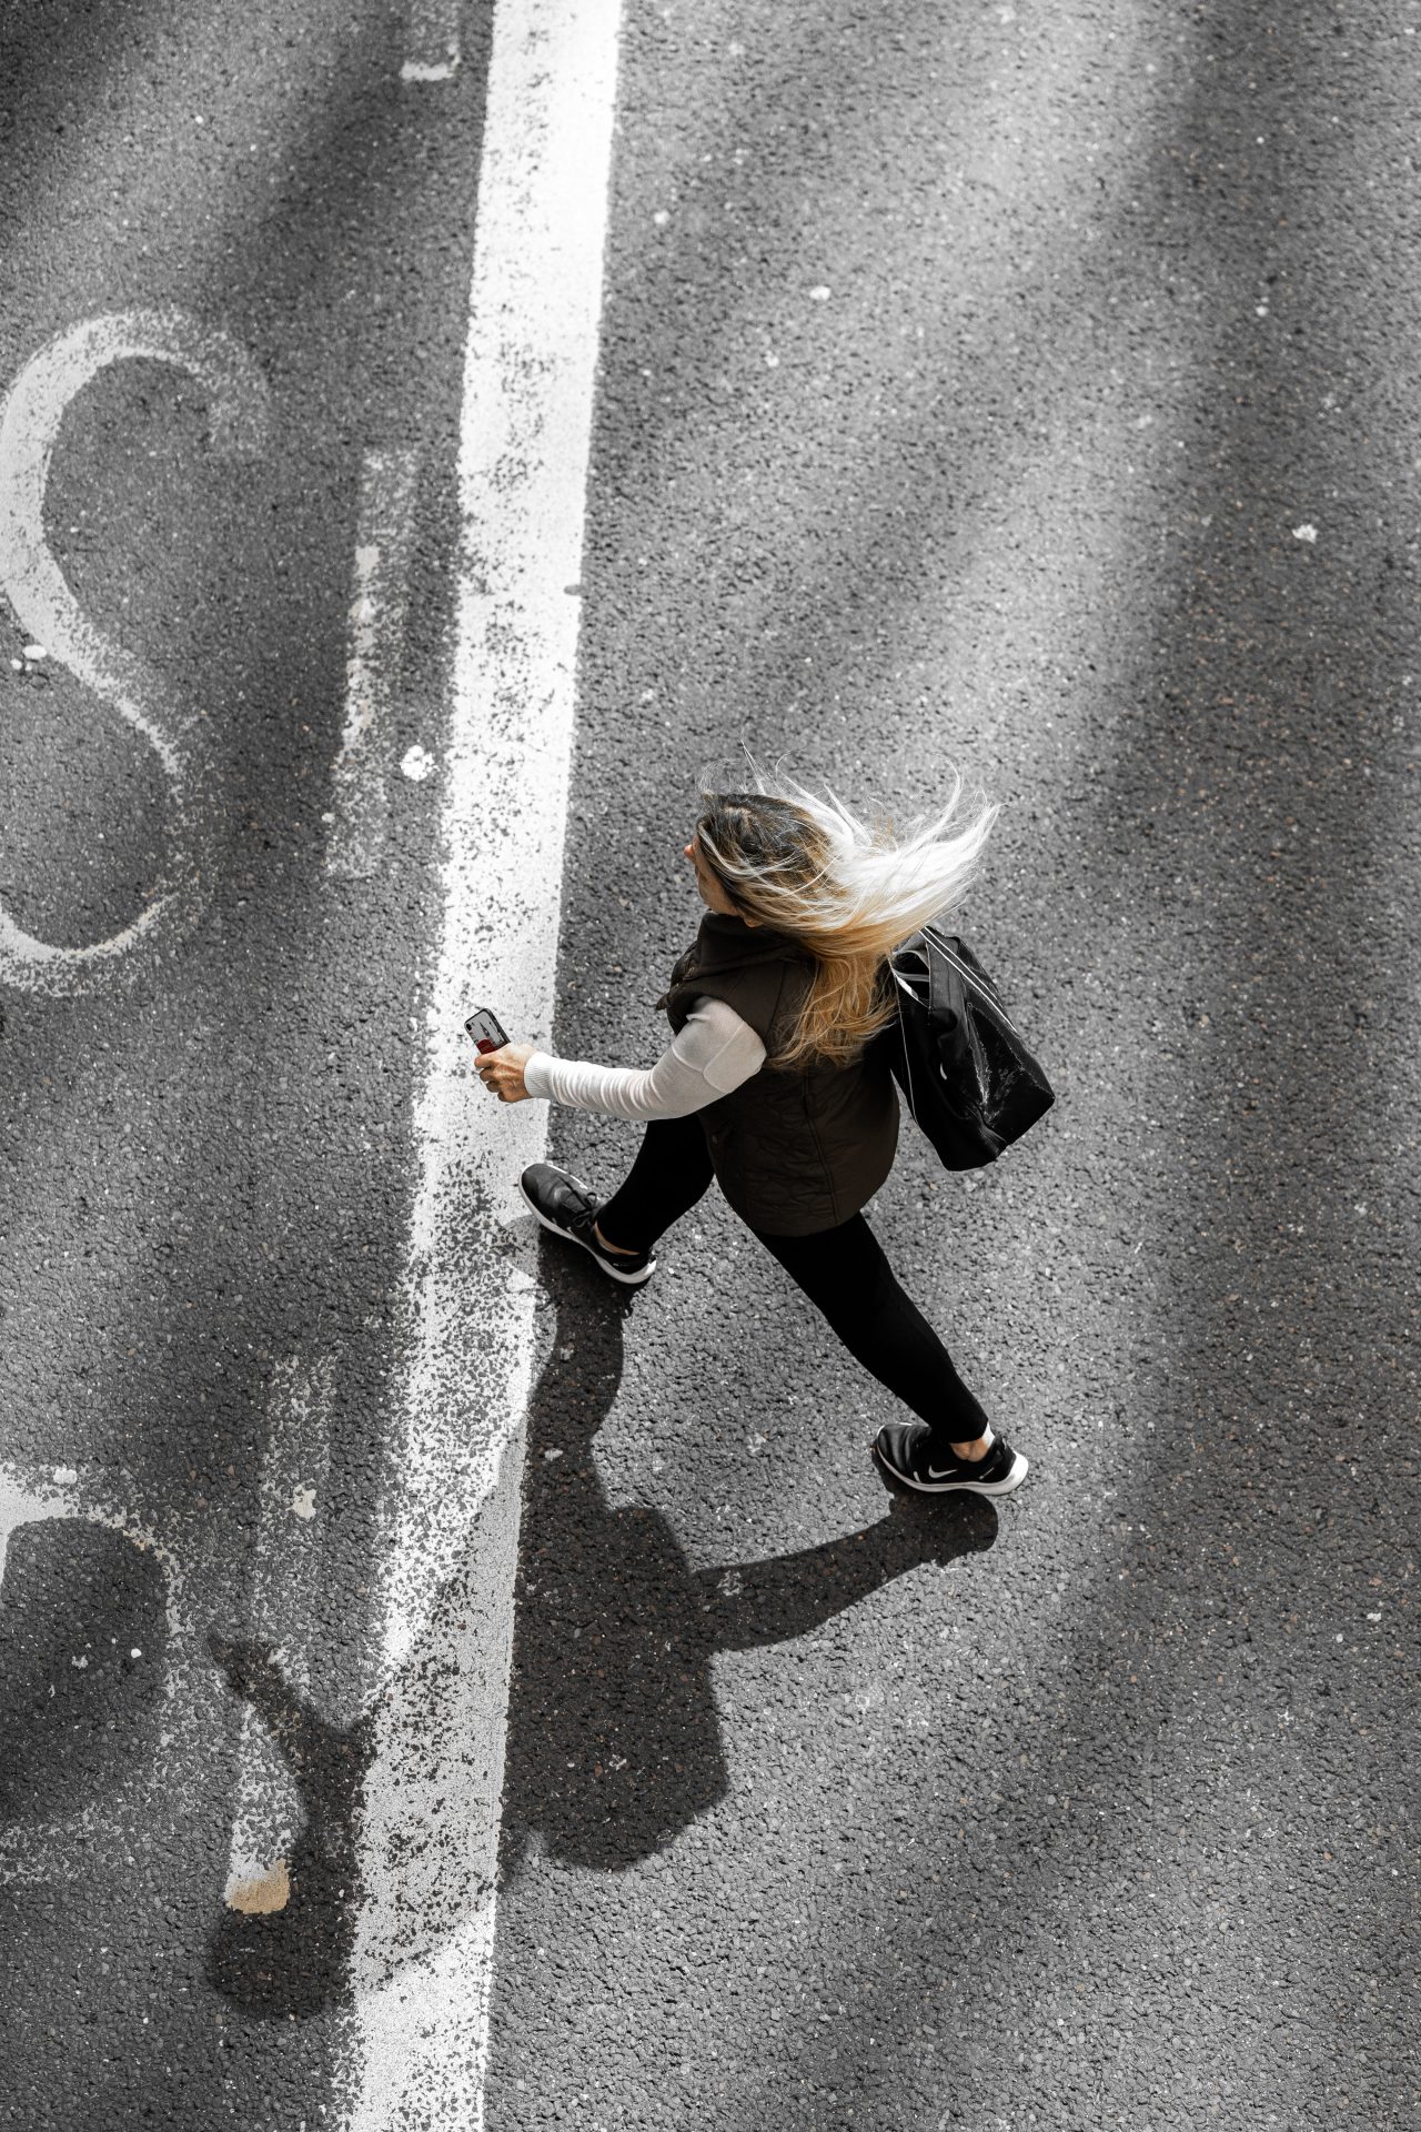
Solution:
M 697 998 L 724 1000 L 773 1057 L 795 1028 L 812 968 L 786 934 L 707 910 L 656 1006 L 682 1030 Z M 897 1089 L 878 1060 L 810 1060 L 788 1072 L 765 1064 L 697 1117 L 726 1200 L 750 1228 L 775 1237 L 848 1222 L 897 1153 Z

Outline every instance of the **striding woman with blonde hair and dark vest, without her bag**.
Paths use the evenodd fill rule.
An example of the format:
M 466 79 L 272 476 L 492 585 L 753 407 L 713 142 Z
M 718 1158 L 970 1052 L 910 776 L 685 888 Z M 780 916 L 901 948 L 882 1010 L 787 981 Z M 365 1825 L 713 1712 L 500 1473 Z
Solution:
M 522 1173 L 543 1228 L 628 1286 L 716 1177 L 724 1198 L 916 1420 L 873 1450 L 910 1488 L 1010 1495 L 1027 1460 L 995 1435 L 952 1356 L 901 1290 L 863 1207 L 897 1151 L 893 1075 L 869 1038 L 897 1015 L 888 955 L 942 919 L 997 817 L 959 823 L 961 780 L 903 840 L 869 831 L 831 793 L 701 787 L 686 859 L 707 915 L 656 1000 L 671 1045 L 654 1066 L 592 1066 L 509 1043 L 479 1055 L 501 1102 L 543 1096 L 646 1119 L 626 1181 L 599 1198 L 552 1162 Z

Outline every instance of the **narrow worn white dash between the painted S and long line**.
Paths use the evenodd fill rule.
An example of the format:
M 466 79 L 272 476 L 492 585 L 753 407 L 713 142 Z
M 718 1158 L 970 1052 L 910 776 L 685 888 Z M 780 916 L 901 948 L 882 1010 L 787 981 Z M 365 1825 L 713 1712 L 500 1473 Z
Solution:
M 375 872 L 386 844 L 388 712 L 405 635 L 418 471 L 415 452 L 366 452 L 360 482 L 345 731 L 332 770 L 334 806 L 326 838 L 328 870 L 354 881 Z

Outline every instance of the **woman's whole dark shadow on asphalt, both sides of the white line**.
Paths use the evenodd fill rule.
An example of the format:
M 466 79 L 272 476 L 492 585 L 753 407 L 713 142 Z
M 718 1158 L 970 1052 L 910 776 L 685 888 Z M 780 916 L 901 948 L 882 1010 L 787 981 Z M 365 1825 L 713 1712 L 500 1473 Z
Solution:
M 980 1552 L 997 1535 L 980 1497 L 893 1497 L 873 1524 L 822 1546 L 692 1571 L 667 1518 L 614 1507 L 597 1471 L 633 1298 L 607 1294 L 592 1269 L 548 1271 L 558 1322 L 528 1405 L 501 1876 L 533 1831 L 552 1857 L 609 1870 L 669 1844 L 729 1789 L 716 1652 L 805 1635 L 905 1569 Z M 569 1345 L 571 1371 L 558 1354 Z M 213 1631 L 209 1648 L 275 1740 L 303 1827 L 283 1900 L 271 1912 L 224 1910 L 207 1978 L 251 2015 L 307 2017 L 349 2000 L 373 1712 L 328 1723 L 266 1642 Z M 407 1680 L 420 1682 L 432 1657 L 443 1646 L 418 1648 Z

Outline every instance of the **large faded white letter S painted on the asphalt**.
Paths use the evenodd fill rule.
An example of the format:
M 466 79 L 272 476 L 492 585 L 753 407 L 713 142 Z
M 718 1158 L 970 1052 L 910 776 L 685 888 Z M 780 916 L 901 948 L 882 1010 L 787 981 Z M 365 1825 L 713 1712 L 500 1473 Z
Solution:
M 81 991 L 143 940 L 190 925 L 202 902 L 196 765 L 190 716 L 162 674 L 113 644 L 85 618 L 45 539 L 45 484 L 64 409 L 109 362 L 173 362 L 211 397 L 213 450 L 251 456 L 266 441 L 268 390 L 251 356 L 224 333 L 181 311 L 115 311 L 72 326 L 26 362 L 0 409 L 0 584 L 21 627 L 124 718 L 168 778 L 168 878 L 147 910 L 92 947 L 51 947 L 0 906 L 0 983 L 30 991 Z

